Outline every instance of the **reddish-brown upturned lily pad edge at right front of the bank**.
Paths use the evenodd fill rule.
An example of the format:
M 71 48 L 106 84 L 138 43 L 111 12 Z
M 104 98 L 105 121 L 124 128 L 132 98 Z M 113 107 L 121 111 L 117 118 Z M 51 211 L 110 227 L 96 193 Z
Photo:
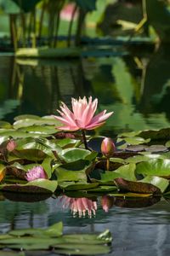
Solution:
M 122 177 L 116 178 L 115 183 L 120 191 L 161 195 L 161 189 L 150 183 L 128 181 Z

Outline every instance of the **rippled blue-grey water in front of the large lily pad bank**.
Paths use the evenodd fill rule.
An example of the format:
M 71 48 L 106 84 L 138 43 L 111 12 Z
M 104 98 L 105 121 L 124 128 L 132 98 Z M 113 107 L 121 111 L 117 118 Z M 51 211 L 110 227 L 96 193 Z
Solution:
M 169 255 L 170 205 L 167 201 L 162 199 L 150 207 L 136 208 L 131 203 L 130 208 L 124 207 L 127 201 L 122 200 L 121 205 L 113 205 L 105 212 L 100 200 L 98 198 L 98 209 L 92 218 L 88 214 L 84 218 L 73 218 L 71 210 L 61 203 L 61 197 L 34 203 L 1 201 L 0 233 L 14 228 L 42 228 L 63 221 L 65 233 L 111 230 L 111 255 Z

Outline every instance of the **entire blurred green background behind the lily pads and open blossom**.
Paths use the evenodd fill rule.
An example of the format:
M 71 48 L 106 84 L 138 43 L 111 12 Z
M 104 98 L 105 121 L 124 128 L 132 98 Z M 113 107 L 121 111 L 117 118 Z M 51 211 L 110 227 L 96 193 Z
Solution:
M 0 0 L 0 119 L 93 96 L 103 135 L 167 127 L 169 43 L 169 0 Z

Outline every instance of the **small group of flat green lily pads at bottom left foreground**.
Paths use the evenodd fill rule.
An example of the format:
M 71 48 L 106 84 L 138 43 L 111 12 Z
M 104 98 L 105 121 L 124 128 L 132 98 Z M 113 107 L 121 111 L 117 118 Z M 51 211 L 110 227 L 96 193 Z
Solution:
M 29 255 L 37 255 L 36 250 L 48 250 L 46 255 L 49 255 L 49 250 L 53 252 L 53 255 L 105 254 L 111 251 L 111 241 L 109 230 L 100 234 L 63 235 L 63 224 L 59 222 L 46 229 L 11 230 L 7 234 L 0 235 L 0 248 L 3 249 L 0 255 L 25 256 L 26 251 L 29 251 Z M 5 251 L 5 248 L 13 251 Z M 22 249 L 22 252 L 14 253 L 14 250 L 18 249 Z

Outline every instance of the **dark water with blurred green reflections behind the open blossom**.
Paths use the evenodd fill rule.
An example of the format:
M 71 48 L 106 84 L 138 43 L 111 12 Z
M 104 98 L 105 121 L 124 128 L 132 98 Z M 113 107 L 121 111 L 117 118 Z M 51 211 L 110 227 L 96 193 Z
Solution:
M 21 60 L 1 56 L 1 119 L 55 113 L 71 96 L 99 98 L 99 110 L 114 111 L 103 134 L 167 127 L 170 50 L 152 55 L 87 58 L 73 61 Z

